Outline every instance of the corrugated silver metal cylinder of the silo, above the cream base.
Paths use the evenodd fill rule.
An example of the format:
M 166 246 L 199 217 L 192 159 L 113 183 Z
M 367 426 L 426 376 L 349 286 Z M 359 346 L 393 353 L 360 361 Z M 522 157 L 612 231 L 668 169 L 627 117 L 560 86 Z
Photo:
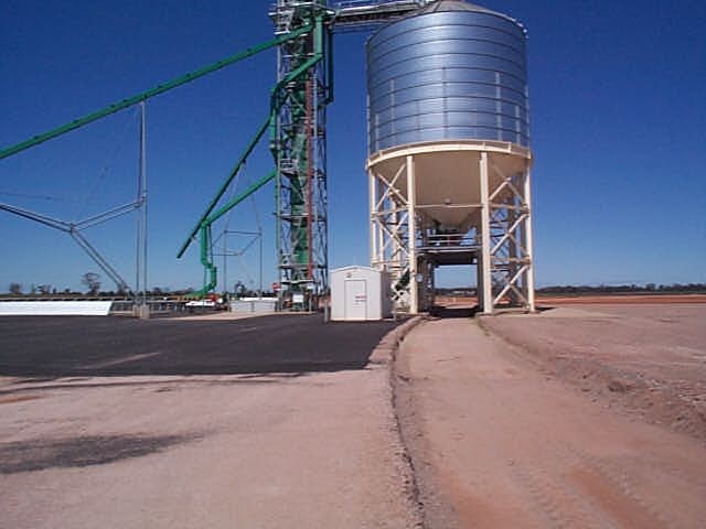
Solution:
M 461 1 L 432 3 L 367 42 L 370 152 L 421 141 L 530 144 L 525 31 Z

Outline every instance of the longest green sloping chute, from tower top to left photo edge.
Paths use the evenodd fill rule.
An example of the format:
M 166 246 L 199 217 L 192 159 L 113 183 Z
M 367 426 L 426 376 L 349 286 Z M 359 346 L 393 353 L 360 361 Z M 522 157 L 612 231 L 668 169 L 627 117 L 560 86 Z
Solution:
M 0 160 L 2 160 L 3 158 L 8 158 L 11 156 L 12 154 L 17 154 L 18 152 L 24 151 L 26 149 L 30 149 L 31 147 L 35 147 L 39 145 L 40 143 L 43 143 L 45 141 L 49 141 L 53 138 L 56 138 L 58 136 L 65 134 L 66 132 L 71 132 L 72 130 L 76 130 L 81 127 L 84 127 L 88 123 L 92 123 L 94 121 L 97 121 L 101 118 L 105 118 L 107 116 L 110 116 L 111 114 L 118 112 L 120 110 L 124 110 L 128 107 L 131 107 L 132 105 L 136 105 L 140 101 L 145 101 L 146 99 L 149 99 L 151 97 L 158 96 L 160 94 L 164 94 L 165 91 L 172 90 L 179 86 L 185 85 L 188 83 L 191 83 L 192 80 L 199 79 L 200 77 L 203 77 L 204 75 L 208 75 L 213 72 L 216 72 L 218 69 L 222 69 L 226 66 L 229 66 L 232 64 L 235 64 L 239 61 L 243 61 L 245 58 L 252 57 L 253 55 L 256 55 L 260 52 L 264 52 L 265 50 L 269 50 L 270 47 L 275 47 L 278 46 L 279 44 L 287 42 L 291 39 L 296 39 L 309 31 L 311 31 L 312 25 L 306 25 L 302 26 L 296 31 L 292 31 L 291 33 L 287 33 L 286 35 L 281 35 L 278 36 L 277 39 L 272 39 L 271 41 L 267 41 L 263 44 L 258 44 L 257 46 L 253 46 L 253 47 L 248 47 L 247 50 L 240 52 L 240 53 L 236 53 L 235 55 L 231 55 L 229 57 L 226 57 L 222 61 L 218 61 L 216 63 L 210 64 L 208 66 L 204 66 L 203 68 L 200 69 L 195 69 L 194 72 L 190 72 L 185 75 L 182 75 L 180 77 L 176 77 L 172 80 L 169 80 L 164 84 L 158 85 L 154 88 L 151 88 L 147 91 L 142 91 L 136 96 L 132 97 L 128 97 L 126 99 L 122 99 L 121 101 L 117 101 L 114 102 L 113 105 L 108 105 L 107 107 L 97 110 L 95 112 L 92 112 L 87 116 L 84 116 L 82 118 L 78 119 L 74 119 L 73 121 L 63 125 L 62 127 L 57 127 L 55 129 L 52 129 L 47 132 L 38 134 L 38 136 L 33 136 L 32 138 L 30 138 L 29 140 L 22 141 L 20 143 L 17 143 L 14 145 L 8 147 L 6 149 L 0 150 Z

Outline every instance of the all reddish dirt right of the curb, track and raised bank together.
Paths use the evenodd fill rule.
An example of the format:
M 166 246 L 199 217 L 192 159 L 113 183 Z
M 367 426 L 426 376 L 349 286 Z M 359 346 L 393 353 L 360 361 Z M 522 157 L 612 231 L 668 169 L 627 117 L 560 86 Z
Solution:
M 416 327 L 395 380 L 424 527 L 706 527 L 705 319 L 607 304 Z

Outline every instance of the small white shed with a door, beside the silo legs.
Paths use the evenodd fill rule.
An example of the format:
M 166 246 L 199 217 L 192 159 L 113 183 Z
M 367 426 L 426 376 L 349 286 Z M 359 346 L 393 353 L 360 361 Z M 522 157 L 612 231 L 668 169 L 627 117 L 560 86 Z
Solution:
M 331 270 L 331 320 L 382 320 L 392 315 L 389 274 L 370 267 Z

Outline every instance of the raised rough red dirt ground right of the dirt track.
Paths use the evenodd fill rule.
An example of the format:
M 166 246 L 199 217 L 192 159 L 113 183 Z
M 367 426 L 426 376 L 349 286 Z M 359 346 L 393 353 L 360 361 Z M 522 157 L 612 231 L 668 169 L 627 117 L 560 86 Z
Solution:
M 706 305 L 574 305 L 481 319 L 595 401 L 706 440 Z

